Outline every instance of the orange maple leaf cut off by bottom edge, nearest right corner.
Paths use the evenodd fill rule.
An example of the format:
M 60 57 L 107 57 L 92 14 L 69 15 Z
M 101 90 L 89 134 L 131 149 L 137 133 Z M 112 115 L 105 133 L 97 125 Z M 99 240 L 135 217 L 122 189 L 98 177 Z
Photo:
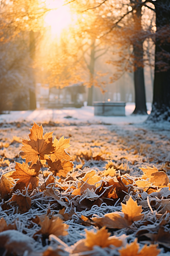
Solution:
M 157 256 L 160 250 L 157 249 L 158 245 L 144 245 L 141 250 L 139 250 L 139 243 L 137 239 L 134 242 L 127 244 L 125 248 L 119 250 L 120 256 Z

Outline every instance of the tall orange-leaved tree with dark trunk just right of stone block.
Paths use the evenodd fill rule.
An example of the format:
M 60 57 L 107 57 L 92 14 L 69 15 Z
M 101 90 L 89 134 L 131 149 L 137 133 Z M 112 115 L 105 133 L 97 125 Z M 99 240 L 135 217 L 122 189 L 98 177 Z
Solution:
M 114 48 L 120 57 L 114 63 L 122 72 L 122 60 L 129 59 L 129 64 L 126 65 L 126 71 L 134 71 L 134 89 L 135 89 L 135 110 L 134 114 L 147 114 L 146 108 L 146 94 L 145 94 L 145 79 L 144 79 L 144 62 L 143 62 L 143 41 L 145 40 L 145 32 L 142 27 L 142 0 L 117 0 L 88 2 L 88 7 L 84 8 L 86 11 L 95 12 L 100 29 L 97 27 L 96 33 L 105 40 L 108 44 L 119 44 L 121 48 Z M 103 19 L 103 23 L 101 20 Z M 107 39 L 108 38 L 108 39 Z M 133 47 L 133 52 L 129 51 Z M 128 49 L 125 53 L 125 48 Z M 121 64 L 120 64 L 121 63 Z M 127 68 L 128 67 L 128 68 Z M 133 67 L 133 68 L 132 68 Z M 123 71 L 124 72 L 124 71 Z M 114 75 L 114 78 L 120 76 Z

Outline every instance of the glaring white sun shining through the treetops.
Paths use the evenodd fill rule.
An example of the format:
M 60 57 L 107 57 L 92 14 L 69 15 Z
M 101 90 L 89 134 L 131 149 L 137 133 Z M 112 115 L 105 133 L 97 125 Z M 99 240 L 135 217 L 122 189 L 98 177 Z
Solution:
M 71 23 L 71 11 L 68 5 L 63 6 L 64 0 L 46 0 L 46 6 L 49 11 L 45 16 L 45 26 L 51 27 L 53 36 L 60 36 L 63 29 Z

